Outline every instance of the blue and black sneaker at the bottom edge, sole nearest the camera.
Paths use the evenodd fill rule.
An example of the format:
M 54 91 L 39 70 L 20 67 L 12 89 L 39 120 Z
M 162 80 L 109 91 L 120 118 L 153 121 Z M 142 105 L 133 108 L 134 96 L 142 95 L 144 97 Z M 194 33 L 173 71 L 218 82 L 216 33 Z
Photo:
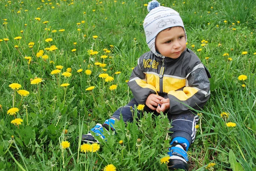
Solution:
M 177 170 L 177 169 L 183 169 L 185 171 L 189 171 L 189 166 L 187 161 L 188 155 L 185 151 L 185 146 L 183 144 L 177 143 L 177 145 L 172 146 L 169 148 L 169 163 L 168 163 L 168 168 L 169 170 Z

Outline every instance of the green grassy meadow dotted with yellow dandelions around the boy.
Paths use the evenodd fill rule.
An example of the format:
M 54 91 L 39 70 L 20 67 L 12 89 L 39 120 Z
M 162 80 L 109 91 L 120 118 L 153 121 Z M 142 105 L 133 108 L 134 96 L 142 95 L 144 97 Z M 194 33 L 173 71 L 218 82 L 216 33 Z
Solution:
M 135 108 L 107 141 L 81 134 L 132 98 L 148 0 L 0 0 L 0 170 L 167 171 L 171 127 Z M 256 1 L 161 0 L 212 75 L 190 171 L 256 171 Z M 77 138 L 79 137 L 79 138 Z M 116 169 L 115 169 L 116 168 Z

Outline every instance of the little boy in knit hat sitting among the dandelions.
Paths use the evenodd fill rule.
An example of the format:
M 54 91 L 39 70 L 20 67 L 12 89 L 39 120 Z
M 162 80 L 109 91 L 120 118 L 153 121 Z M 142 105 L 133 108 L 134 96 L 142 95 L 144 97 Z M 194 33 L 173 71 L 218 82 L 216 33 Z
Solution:
M 167 113 L 172 122 L 172 141 L 169 148 L 169 169 L 188 171 L 187 151 L 195 140 L 198 121 L 189 107 L 201 109 L 209 99 L 210 74 L 200 59 L 186 48 L 186 31 L 178 12 L 160 6 L 153 0 L 144 20 L 146 41 L 151 51 L 138 59 L 128 82 L 134 99 L 113 113 L 103 125 L 97 124 L 92 132 L 104 139 L 103 127 L 114 130 L 120 113 L 124 122 L 132 122 L 130 107 L 145 104 L 144 110 L 155 114 Z M 91 133 L 82 136 L 84 142 L 98 142 Z

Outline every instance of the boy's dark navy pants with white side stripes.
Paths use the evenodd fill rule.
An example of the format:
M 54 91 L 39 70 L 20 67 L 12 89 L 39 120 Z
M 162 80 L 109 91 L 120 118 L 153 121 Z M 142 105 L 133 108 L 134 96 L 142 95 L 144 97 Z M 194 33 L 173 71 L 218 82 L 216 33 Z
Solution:
M 131 113 L 131 107 L 134 109 L 134 104 L 138 106 L 138 103 L 135 99 L 131 99 L 131 101 L 123 107 L 118 108 L 114 113 L 112 118 L 120 119 L 120 114 L 122 113 L 122 117 L 124 122 L 133 122 L 133 115 Z M 156 115 L 159 115 L 154 110 L 151 110 L 147 106 L 144 107 L 146 112 L 153 112 Z M 168 119 L 172 122 L 172 128 L 170 131 L 172 132 L 171 137 L 174 139 L 175 137 L 183 137 L 189 141 L 191 145 L 195 140 L 195 125 L 198 122 L 198 116 L 192 112 L 183 113 L 179 115 L 172 115 L 171 113 L 167 113 Z

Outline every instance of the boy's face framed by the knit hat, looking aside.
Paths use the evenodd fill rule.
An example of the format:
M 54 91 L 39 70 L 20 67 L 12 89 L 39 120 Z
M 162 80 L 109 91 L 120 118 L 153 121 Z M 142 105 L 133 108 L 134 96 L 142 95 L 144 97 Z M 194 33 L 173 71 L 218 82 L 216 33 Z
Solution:
M 161 55 L 169 58 L 179 58 L 186 49 L 185 32 L 182 27 L 172 27 L 158 33 L 156 49 Z

